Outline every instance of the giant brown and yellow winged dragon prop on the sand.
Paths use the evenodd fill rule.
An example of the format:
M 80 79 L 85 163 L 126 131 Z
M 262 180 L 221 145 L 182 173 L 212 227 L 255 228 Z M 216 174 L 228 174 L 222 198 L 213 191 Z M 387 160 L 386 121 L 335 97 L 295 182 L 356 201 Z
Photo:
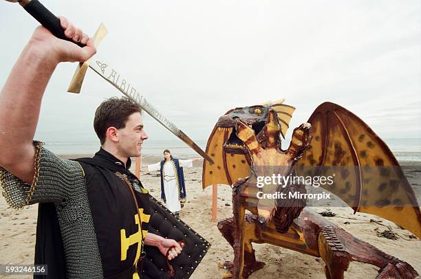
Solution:
M 421 236 L 421 213 L 413 189 L 385 142 L 363 120 L 336 104 L 325 102 L 310 119 L 294 129 L 287 150 L 281 149 L 294 112 L 281 102 L 228 111 L 211 133 L 204 162 L 203 187 L 232 185 L 233 218 L 218 228 L 234 249 L 226 263 L 234 278 L 248 278 L 264 263 L 256 260 L 253 243 L 270 243 L 325 262 L 326 278 L 343 278 L 356 260 L 380 267 L 377 278 L 416 278 L 408 263 L 354 238 L 305 208 L 305 199 L 258 199 L 257 192 L 305 193 L 302 183 L 257 187 L 257 177 L 307 175 L 339 170 L 330 186 L 356 212 L 367 212 Z M 338 169 L 339 168 L 339 169 Z M 251 214 L 246 214 L 246 210 Z

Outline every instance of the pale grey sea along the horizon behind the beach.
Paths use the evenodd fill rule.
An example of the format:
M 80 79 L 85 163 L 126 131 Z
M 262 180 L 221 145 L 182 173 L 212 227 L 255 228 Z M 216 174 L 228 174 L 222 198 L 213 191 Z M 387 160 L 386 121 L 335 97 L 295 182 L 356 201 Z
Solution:
M 421 138 L 383 139 L 396 159 L 401 162 L 421 162 Z M 195 143 L 206 149 L 207 139 L 197 139 Z M 93 155 L 100 144 L 93 142 L 46 142 L 45 147 L 58 155 Z M 285 146 L 285 144 L 284 144 Z M 176 157 L 191 158 L 197 156 L 195 150 L 177 139 L 145 141 L 142 145 L 142 156 L 161 156 L 164 149 L 171 150 Z

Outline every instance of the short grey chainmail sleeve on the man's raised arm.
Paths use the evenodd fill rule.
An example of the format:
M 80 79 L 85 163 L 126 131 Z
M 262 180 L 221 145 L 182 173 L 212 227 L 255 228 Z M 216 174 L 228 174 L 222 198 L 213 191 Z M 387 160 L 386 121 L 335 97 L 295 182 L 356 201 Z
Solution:
M 76 161 L 61 159 L 42 142 L 34 142 L 35 175 L 32 184 L 26 183 L 0 167 L 0 186 L 11 208 L 40 202 L 64 203 L 72 186 L 82 183 L 83 169 Z

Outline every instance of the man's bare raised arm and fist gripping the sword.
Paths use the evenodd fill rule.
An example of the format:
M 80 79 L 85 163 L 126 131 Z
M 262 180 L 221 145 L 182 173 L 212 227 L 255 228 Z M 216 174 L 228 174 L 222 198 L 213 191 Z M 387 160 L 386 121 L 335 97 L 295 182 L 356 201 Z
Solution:
M 0 93 L 0 166 L 28 183 L 34 177 L 32 140 L 48 80 L 58 63 L 84 62 L 96 52 L 86 34 L 64 17 L 60 21 L 67 38 L 87 46 L 78 47 L 37 27 Z

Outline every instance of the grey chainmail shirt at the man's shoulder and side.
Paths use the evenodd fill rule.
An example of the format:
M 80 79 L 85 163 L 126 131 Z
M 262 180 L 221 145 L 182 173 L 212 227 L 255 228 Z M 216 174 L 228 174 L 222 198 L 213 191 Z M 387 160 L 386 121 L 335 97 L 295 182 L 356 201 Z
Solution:
M 35 164 L 36 165 L 36 164 Z M 41 148 L 39 176 L 29 204 L 53 202 L 66 259 L 67 278 L 103 278 L 102 263 L 91 216 L 83 168 Z M 12 208 L 22 208 L 30 184 L 0 167 L 3 197 Z

